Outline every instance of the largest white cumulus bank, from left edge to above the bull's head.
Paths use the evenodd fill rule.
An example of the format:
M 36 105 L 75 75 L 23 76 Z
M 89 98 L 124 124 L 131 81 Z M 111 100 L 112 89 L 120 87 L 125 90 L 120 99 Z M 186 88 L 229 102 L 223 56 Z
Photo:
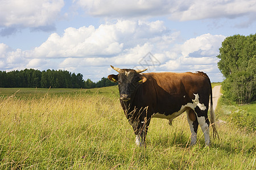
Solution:
M 22 51 L 0 45 L 0 57 L 6 69 L 15 63 L 30 68 L 72 69 L 75 67 L 136 65 L 148 52 L 168 49 L 179 33 L 162 21 L 118 20 L 114 23 L 67 28 L 63 35 L 52 33 L 42 45 Z M 46 60 L 46 58 L 48 58 Z M 20 59 L 23 60 L 20 61 Z M 55 65 L 48 62 L 55 61 Z M 43 67 L 44 66 L 44 67 Z M 47 69 L 48 69 L 47 68 Z

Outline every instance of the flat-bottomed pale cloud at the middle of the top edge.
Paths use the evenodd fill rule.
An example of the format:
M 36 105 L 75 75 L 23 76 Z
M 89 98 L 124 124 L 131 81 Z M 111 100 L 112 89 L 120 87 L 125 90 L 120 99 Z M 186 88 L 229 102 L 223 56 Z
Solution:
M 108 17 L 135 17 L 135 16 L 154 16 L 168 14 L 173 2 L 167 1 L 113 1 L 113 0 L 77 0 L 75 5 L 83 7 L 90 15 Z

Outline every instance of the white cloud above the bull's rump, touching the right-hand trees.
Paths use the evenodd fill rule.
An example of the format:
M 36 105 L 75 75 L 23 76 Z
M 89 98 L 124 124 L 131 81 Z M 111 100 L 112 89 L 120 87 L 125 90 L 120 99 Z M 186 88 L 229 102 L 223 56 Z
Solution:
M 209 33 L 197 36 L 185 41 L 183 44 L 175 45 L 166 55 L 170 59 L 158 68 L 158 71 L 204 71 L 211 76 L 220 73 L 217 68 L 218 49 L 225 39 L 222 35 L 210 35 Z M 220 81 L 222 76 L 214 76 L 213 80 Z

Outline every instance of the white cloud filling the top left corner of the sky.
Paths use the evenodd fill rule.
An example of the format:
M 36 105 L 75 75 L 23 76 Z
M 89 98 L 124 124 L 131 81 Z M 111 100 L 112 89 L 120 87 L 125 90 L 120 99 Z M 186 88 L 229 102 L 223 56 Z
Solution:
M 1 1 L 0 27 L 51 25 L 55 22 L 63 6 L 63 0 Z

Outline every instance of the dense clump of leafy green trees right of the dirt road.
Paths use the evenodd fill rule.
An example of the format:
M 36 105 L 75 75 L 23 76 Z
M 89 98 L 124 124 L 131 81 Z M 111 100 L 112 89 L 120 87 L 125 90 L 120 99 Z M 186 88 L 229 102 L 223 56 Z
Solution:
M 238 104 L 256 100 L 256 34 L 226 37 L 219 49 L 218 68 L 225 76 L 224 96 Z

